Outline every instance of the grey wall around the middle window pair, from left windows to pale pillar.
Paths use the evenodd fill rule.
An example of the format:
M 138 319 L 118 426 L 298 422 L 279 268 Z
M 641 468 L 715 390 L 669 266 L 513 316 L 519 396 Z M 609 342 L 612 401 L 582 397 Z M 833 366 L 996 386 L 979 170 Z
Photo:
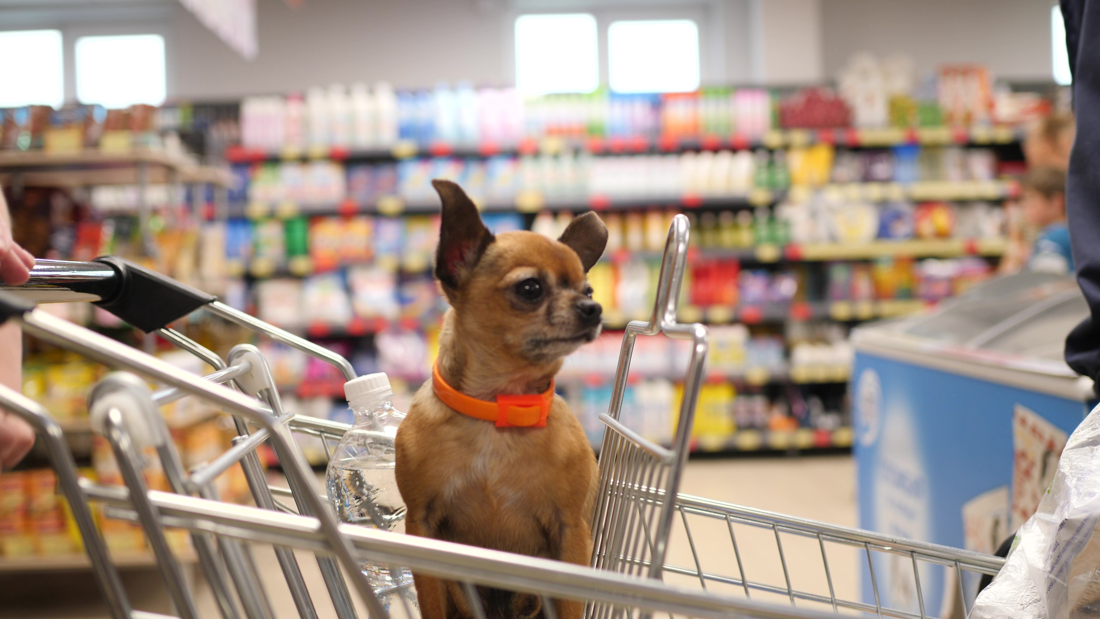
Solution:
M 602 26 L 614 19 L 695 19 L 704 83 L 743 84 L 751 79 L 749 1 L 306 0 L 292 9 L 284 0 L 257 0 L 260 54 L 252 62 L 180 10 L 172 94 L 228 98 L 383 79 L 397 86 L 513 84 L 515 17 L 563 11 L 592 12 Z

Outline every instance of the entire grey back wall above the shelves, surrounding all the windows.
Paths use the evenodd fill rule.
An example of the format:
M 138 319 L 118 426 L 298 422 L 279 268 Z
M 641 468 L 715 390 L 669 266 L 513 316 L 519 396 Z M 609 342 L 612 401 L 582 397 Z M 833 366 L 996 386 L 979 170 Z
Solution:
M 519 12 L 592 11 L 602 19 L 684 13 L 700 21 L 703 78 L 810 84 L 858 51 L 902 52 L 921 70 L 980 62 L 999 77 L 1050 79 L 1053 0 L 256 0 L 260 55 L 232 52 L 176 0 L 0 0 L 0 28 L 165 36 L 169 97 L 231 99 L 332 82 L 439 79 L 505 85 Z M 634 18 L 627 18 L 634 19 Z

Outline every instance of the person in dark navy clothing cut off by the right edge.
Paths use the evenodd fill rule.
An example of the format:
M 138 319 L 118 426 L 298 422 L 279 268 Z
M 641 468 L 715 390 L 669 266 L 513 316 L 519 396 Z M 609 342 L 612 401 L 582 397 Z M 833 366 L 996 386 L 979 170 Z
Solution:
M 1066 215 L 1077 282 L 1090 313 L 1066 338 L 1066 362 L 1100 383 L 1100 1 L 1062 0 L 1062 14 L 1077 117 Z

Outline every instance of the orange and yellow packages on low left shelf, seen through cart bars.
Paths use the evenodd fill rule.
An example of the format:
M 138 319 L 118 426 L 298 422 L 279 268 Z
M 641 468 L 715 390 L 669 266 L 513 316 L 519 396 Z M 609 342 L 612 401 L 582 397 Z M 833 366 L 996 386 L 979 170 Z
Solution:
M 85 394 L 90 383 L 85 385 Z M 212 460 L 232 446 L 237 435 L 228 417 L 210 420 L 186 428 L 172 431 L 172 439 L 185 467 Z M 156 452 L 150 447 L 142 454 L 147 463 L 143 470 L 151 490 L 170 491 L 167 477 Z M 107 439 L 92 437 L 91 467 L 79 470 L 80 477 L 100 484 L 122 485 Z M 223 501 L 243 502 L 249 493 L 244 473 L 239 464 L 215 480 Z M 146 549 L 145 534 L 134 522 L 107 517 L 103 507 L 92 507 L 92 515 L 107 547 L 113 553 L 134 553 Z M 176 553 L 188 553 L 190 539 L 186 530 L 168 529 L 166 536 Z M 58 556 L 80 553 L 84 543 L 67 501 L 57 493 L 53 469 L 28 469 L 0 474 L 0 561 L 30 556 Z

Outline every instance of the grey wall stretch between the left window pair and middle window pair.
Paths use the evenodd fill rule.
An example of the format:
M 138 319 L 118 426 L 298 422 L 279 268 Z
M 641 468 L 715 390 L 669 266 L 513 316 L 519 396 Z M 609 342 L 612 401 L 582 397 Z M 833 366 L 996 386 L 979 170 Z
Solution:
M 430 86 L 499 84 L 501 9 L 471 0 L 258 0 L 260 54 L 245 61 L 184 10 L 176 20 L 175 89 L 188 98 L 284 93 L 332 82 Z M 479 7 L 485 7 L 484 9 Z

